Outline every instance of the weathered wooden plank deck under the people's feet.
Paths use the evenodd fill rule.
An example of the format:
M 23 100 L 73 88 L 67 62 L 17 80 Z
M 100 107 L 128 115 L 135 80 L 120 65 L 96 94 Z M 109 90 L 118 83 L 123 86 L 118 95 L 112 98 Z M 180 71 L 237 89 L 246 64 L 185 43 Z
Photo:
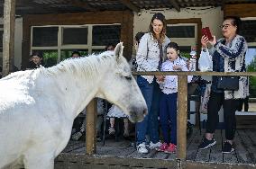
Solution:
M 202 135 L 197 129 L 187 138 L 187 159 L 181 161 L 176 154 L 151 150 L 137 153 L 130 141 L 107 139 L 105 146 L 97 143 L 96 155 L 86 155 L 85 142 L 70 141 L 56 159 L 55 168 L 256 168 L 256 131 L 237 129 L 235 151 L 222 154 L 224 130 L 216 130 L 216 145 L 206 150 L 197 149 Z

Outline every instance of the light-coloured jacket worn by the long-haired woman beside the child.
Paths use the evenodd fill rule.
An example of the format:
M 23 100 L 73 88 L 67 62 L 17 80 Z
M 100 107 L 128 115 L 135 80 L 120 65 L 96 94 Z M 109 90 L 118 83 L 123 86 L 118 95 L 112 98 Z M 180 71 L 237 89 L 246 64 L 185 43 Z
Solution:
M 163 61 L 166 58 L 166 46 L 169 44 L 170 40 L 166 36 L 163 43 Z M 160 49 L 158 41 L 154 40 L 152 34 L 145 33 L 140 40 L 138 52 L 136 55 L 137 71 L 159 71 L 158 65 L 160 61 Z M 153 81 L 154 76 L 142 76 L 150 84 Z

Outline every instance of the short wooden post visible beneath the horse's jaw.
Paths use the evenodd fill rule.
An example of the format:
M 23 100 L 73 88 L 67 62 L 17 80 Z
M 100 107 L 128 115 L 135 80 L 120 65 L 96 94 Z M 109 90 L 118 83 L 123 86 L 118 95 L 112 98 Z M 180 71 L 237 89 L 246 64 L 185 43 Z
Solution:
M 93 99 L 87 105 L 87 154 L 96 153 L 96 99 Z

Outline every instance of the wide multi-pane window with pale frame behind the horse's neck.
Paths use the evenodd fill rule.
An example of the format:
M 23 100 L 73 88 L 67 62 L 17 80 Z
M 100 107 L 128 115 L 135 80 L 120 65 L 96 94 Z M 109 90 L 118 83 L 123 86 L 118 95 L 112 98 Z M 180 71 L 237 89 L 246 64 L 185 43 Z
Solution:
M 120 34 L 120 24 L 33 26 L 31 49 L 41 50 L 44 63 L 53 66 L 70 58 L 73 50 L 82 56 L 104 51 L 107 44 L 120 41 Z

